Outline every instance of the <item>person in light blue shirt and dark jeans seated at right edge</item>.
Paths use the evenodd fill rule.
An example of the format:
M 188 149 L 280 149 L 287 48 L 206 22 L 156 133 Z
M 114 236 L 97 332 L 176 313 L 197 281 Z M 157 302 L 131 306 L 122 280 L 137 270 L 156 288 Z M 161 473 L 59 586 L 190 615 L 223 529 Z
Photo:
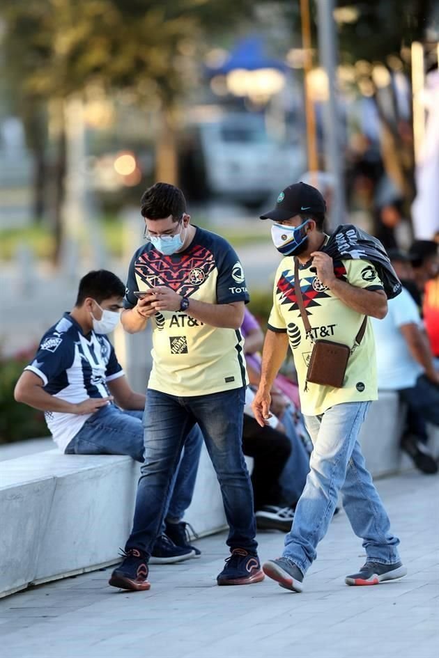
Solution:
M 410 263 L 403 253 L 389 250 L 401 281 L 410 281 Z M 378 389 L 394 390 L 406 403 L 407 425 L 401 448 L 424 473 L 436 473 L 436 460 L 426 448 L 426 421 L 439 425 L 439 372 L 422 330 L 415 301 L 406 288 L 389 300 L 383 320 L 371 318 L 376 338 Z

